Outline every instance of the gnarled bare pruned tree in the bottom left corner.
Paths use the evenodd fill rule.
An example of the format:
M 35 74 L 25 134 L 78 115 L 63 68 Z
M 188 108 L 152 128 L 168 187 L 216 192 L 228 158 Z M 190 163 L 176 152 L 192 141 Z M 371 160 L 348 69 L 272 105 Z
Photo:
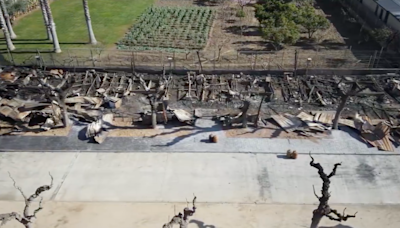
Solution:
M 33 193 L 32 195 L 27 197 L 25 195 L 25 193 L 22 191 L 22 189 L 17 186 L 17 184 L 16 184 L 14 178 L 11 176 L 11 174 L 8 173 L 8 175 L 10 176 L 11 180 L 14 182 L 14 187 L 21 193 L 22 197 L 24 197 L 25 209 L 24 209 L 24 213 L 22 215 L 17 212 L 0 214 L 0 221 L 1 221 L 0 226 L 6 224 L 8 221 L 10 221 L 12 219 L 15 219 L 18 222 L 20 222 L 22 225 L 24 225 L 25 228 L 33 228 L 33 223 L 36 220 L 36 214 L 43 209 L 43 207 L 42 207 L 43 197 L 40 198 L 39 207 L 33 211 L 33 214 L 30 213 L 30 206 L 31 206 L 32 202 L 40 196 L 40 194 L 42 194 L 45 191 L 49 191 L 53 187 L 53 176 L 49 173 L 50 178 L 51 178 L 50 185 L 40 186 L 39 188 L 36 189 L 35 193 Z

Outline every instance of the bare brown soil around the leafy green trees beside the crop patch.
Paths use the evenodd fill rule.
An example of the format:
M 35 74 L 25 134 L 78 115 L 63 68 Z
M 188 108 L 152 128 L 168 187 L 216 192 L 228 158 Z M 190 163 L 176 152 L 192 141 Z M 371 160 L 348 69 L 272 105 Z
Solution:
M 240 8 L 236 1 L 226 1 L 224 4 L 197 0 L 156 2 L 158 6 L 206 6 L 217 11 L 208 45 L 201 51 L 201 60 L 205 67 L 213 63 L 216 67 L 220 66 L 219 64 L 229 64 L 232 67 L 241 65 L 252 66 L 255 69 L 293 68 L 296 50 L 299 68 L 367 67 L 371 64 L 375 50 L 380 48 L 371 39 L 364 39 L 364 35 L 359 32 L 360 25 L 356 21 L 344 19 L 342 8 L 337 4 L 316 1 L 317 12 L 326 15 L 331 22 L 329 29 L 316 32 L 312 41 L 304 32 L 296 44 L 275 51 L 273 46 L 261 37 L 258 30 L 259 22 L 254 16 L 252 6 L 244 8 L 245 17 L 240 19 L 236 17 L 236 12 Z M 219 53 L 220 58 L 218 58 Z M 152 58 L 158 60 L 159 54 L 142 58 L 147 62 Z M 308 58 L 312 61 L 307 62 Z M 177 54 L 175 59 L 184 67 L 193 67 L 196 66 L 197 56 L 195 53 Z M 214 59 L 218 61 L 214 63 Z

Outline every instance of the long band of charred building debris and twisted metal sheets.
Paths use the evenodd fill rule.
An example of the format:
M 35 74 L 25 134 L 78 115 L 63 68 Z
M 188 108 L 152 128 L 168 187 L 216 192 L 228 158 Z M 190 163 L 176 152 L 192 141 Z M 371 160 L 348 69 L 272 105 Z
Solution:
M 149 128 L 216 118 L 227 128 L 272 124 L 303 137 L 329 133 L 337 124 L 388 151 L 400 135 L 398 74 L 179 76 L 15 68 L 0 76 L 1 134 L 65 127 L 75 118 L 91 123 L 87 136 L 103 142 L 115 118 Z

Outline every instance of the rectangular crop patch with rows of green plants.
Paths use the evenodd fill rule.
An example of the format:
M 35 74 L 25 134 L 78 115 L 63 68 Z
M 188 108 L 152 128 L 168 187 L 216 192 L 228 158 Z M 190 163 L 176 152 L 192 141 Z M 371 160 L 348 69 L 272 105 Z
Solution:
M 205 7 L 151 7 L 118 42 L 118 49 L 201 49 L 208 39 L 214 11 Z

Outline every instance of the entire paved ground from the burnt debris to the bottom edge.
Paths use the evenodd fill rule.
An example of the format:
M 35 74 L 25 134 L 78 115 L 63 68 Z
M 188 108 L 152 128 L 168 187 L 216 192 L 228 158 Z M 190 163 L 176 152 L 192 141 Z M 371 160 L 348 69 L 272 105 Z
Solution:
M 352 132 L 310 141 L 227 138 L 211 128 L 182 137 L 107 138 L 97 145 L 76 131 L 0 137 L 0 213 L 23 210 L 7 172 L 26 194 L 49 184 L 51 172 L 54 187 L 44 195 L 39 228 L 161 227 L 194 193 L 199 209 L 189 228 L 309 227 L 318 203 L 312 186 L 319 194 L 322 185 L 309 165 L 311 151 L 326 172 L 343 162 L 332 178 L 330 204 L 358 211 L 344 223 L 324 218 L 320 228 L 400 227 L 400 149 L 377 151 Z M 219 142 L 205 143 L 215 132 Z M 285 159 L 287 149 L 299 151 L 298 159 Z

